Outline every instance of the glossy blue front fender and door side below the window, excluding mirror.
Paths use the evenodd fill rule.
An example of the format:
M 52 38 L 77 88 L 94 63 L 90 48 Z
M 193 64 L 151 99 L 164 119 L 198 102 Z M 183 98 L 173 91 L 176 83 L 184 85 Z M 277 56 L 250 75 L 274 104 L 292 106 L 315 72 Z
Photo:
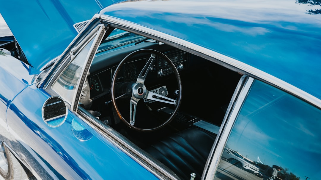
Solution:
M 70 111 L 61 126 L 46 125 L 41 107 L 50 95 L 36 88 L 35 75 L 24 63 L 2 51 L 0 57 L 0 139 L 36 177 L 157 179 Z

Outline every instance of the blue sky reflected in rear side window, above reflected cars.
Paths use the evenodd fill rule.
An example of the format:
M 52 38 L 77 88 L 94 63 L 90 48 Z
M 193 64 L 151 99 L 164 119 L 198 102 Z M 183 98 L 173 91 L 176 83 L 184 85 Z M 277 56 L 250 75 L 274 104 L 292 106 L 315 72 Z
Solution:
M 321 176 L 321 111 L 255 81 L 227 146 L 253 161 L 287 168 L 300 179 Z

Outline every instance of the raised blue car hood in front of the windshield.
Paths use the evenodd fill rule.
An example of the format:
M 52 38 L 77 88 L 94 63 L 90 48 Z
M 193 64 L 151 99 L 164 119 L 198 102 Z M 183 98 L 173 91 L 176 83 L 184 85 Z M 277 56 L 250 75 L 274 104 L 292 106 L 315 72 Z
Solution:
M 121 0 L 3 1 L 0 13 L 30 66 L 41 70 L 78 34 L 74 24 L 90 20 L 103 7 Z

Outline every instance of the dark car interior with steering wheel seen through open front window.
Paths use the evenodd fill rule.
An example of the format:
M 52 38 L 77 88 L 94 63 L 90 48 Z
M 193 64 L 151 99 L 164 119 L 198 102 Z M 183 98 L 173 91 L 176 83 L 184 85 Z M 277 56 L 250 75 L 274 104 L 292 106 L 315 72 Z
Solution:
M 179 178 L 190 179 L 195 173 L 200 179 L 242 75 L 171 45 L 114 31 L 117 35 L 101 43 L 91 63 L 79 109 Z M 143 84 L 152 98 L 139 87 L 135 90 L 143 95 L 136 97 L 135 84 Z

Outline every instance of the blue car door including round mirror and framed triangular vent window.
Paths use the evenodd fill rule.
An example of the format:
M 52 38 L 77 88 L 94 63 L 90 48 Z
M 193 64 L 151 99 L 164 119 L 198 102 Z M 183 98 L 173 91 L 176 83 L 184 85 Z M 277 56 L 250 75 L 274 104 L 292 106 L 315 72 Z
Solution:
M 105 32 L 96 23 L 79 35 L 50 70 L 45 88 L 28 86 L 8 108 L 10 148 L 37 179 L 156 178 L 74 113 L 83 74 Z

